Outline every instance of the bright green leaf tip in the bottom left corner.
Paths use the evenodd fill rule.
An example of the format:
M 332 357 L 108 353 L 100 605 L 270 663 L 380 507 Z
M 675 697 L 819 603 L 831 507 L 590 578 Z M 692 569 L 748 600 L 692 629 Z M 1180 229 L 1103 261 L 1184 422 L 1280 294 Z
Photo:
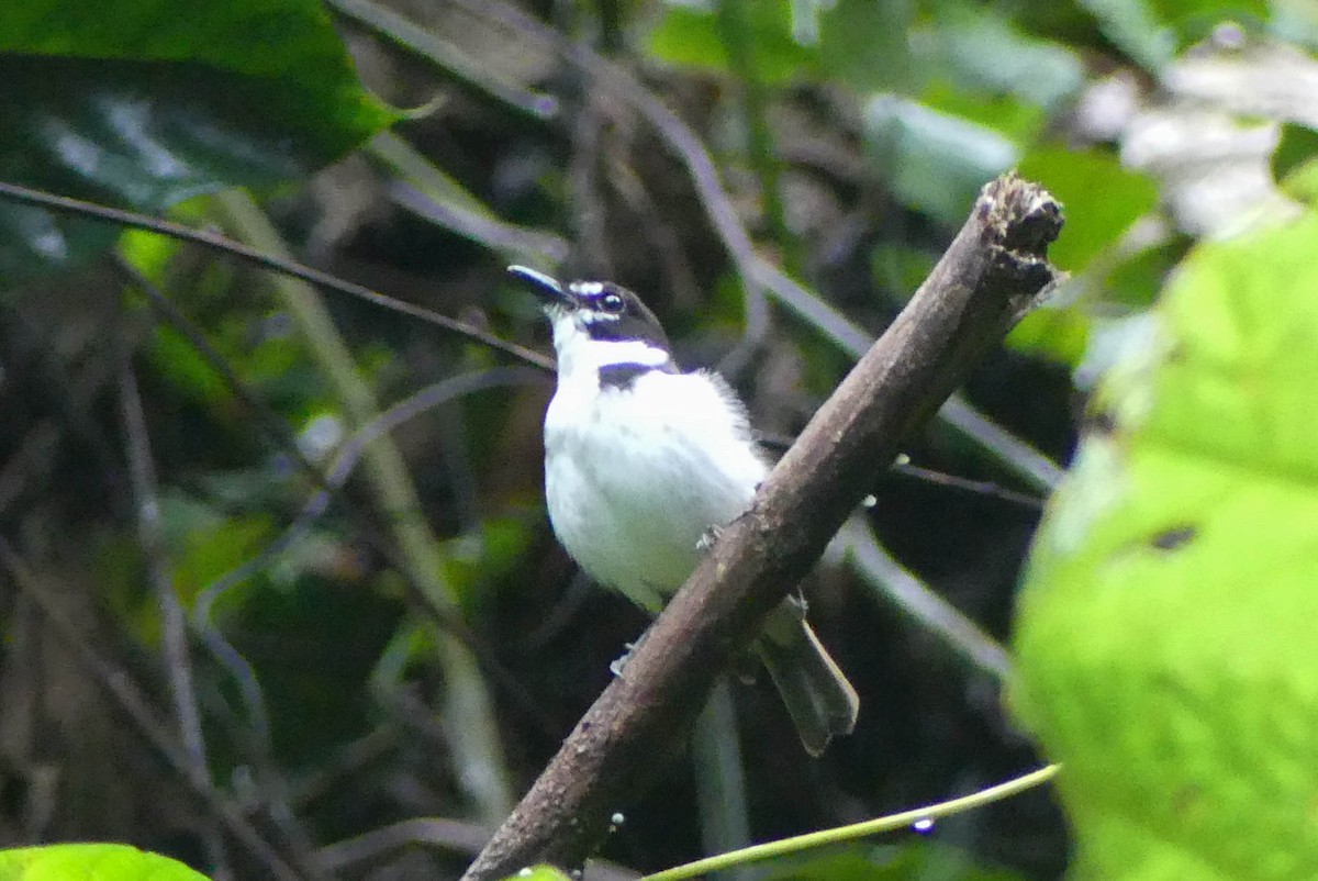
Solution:
M 182 863 L 127 844 L 0 851 L 0 881 L 206 881 Z

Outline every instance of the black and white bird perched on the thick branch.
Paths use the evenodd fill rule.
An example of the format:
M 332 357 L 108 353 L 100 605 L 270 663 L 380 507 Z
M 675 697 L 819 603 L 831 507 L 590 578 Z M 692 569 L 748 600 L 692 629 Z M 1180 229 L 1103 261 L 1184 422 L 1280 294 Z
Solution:
M 710 529 L 746 512 L 768 466 L 728 382 L 684 372 L 634 293 L 527 269 L 554 326 L 558 386 L 544 417 L 544 495 L 568 554 L 651 615 L 687 580 Z M 850 733 L 859 700 L 792 596 L 755 650 L 807 752 Z

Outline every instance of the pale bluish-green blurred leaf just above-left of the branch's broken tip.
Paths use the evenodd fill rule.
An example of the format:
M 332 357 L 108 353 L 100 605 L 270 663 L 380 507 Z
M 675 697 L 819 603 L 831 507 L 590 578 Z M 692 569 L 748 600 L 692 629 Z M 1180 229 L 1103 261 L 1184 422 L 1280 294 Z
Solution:
M 998 132 L 892 95 L 866 104 L 865 137 L 898 197 L 949 224 L 963 220 L 979 189 L 1017 158 Z

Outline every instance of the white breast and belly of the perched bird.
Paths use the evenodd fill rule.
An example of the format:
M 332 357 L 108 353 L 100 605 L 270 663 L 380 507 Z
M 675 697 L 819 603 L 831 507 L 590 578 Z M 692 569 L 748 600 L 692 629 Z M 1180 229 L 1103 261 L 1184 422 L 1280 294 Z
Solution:
M 642 376 L 637 394 L 560 385 L 546 415 L 554 532 L 592 578 L 651 612 L 696 567 L 705 530 L 746 510 L 767 472 L 718 394 L 699 375 Z

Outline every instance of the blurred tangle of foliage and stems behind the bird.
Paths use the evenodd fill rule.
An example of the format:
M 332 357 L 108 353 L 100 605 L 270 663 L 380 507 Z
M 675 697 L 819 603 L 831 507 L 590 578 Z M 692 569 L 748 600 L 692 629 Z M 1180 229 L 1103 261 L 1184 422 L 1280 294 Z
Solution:
M 505 265 L 613 278 L 779 438 L 986 181 L 1065 203 L 1070 281 L 809 587 L 858 731 L 809 761 L 734 681 L 618 806 L 604 856 L 647 870 L 1039 764 L 1000 642 L 1041 502 L 1186 252 L 1318 190 L 1315 49 L 1309 0 L 24 0 L 0 181 L 542 355 Z M 0 195 L 0 845 L 459 872 L 645 626 L 548 530 L 543 359 Z M 1056 878 L 1069 849 L 1033 791 L 764 872 Z

